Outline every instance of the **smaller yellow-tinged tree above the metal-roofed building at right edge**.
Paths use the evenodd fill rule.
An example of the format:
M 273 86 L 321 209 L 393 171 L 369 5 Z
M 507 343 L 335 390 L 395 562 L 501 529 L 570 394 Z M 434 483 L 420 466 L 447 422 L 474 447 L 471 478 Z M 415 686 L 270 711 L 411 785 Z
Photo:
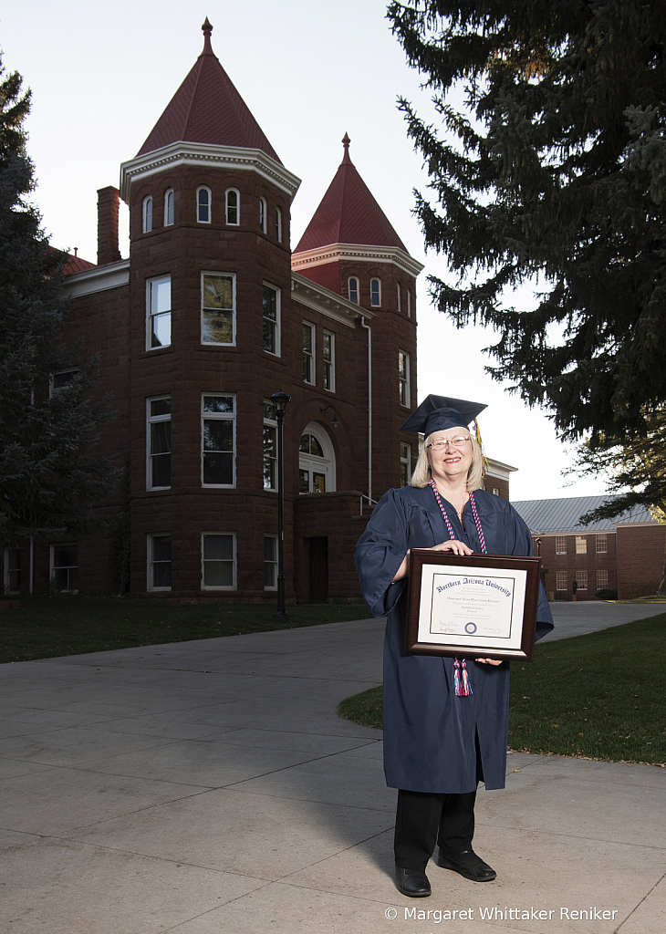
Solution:
M 566 473 L 610 476 L 612 500 L 581 517 L 583 522 L 612 519 L 635 506 L 647 505 L 659 522 L 666 522 L 666 405 L 645 412 L 645 436 L 625 439 L 600 437 L 578 447 Z M 659 594 L 666 594 L 666 551 Z

